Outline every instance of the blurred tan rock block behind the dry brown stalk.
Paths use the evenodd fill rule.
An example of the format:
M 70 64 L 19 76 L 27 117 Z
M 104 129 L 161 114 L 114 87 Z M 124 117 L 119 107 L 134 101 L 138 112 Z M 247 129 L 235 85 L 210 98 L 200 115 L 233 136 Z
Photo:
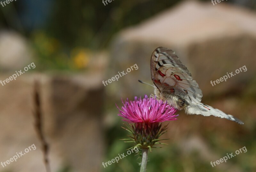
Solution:
M 1 74 L 7 78 L 9 74 Z M 101 128 L 104 91 L 101 74 L 24 74 L 0 85 L 0 162 L 35 144 L 2 170 L 45 172 L 41 143 L 34 129 L 33 85 L 41 82 L 44 135 L 50 146 L 52 171 L 69 167 L 75 172 L 100 171 L 103 151 Z

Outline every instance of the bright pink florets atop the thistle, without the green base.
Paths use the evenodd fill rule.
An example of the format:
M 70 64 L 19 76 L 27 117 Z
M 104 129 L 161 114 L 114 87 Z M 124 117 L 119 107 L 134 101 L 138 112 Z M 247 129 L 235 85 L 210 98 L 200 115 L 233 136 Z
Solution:
M 119 116 L 125 118 L 124 121 L 129 123 L 153 123 L 153 122 L 164 122 L 177 120 L 177 116 L 174 113 L 177 111 L 174 107 L 157 100 L 156 98 L 134 98 L 134 101 L 123 101 L 124 106 L 122 110 L 119 109 Z

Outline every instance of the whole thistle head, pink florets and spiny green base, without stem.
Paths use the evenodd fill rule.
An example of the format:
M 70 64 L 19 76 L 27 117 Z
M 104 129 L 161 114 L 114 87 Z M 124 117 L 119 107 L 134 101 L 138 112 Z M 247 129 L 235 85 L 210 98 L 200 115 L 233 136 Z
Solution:
M 135 142 L 137 147 L 141 149 L 150 149 L 159 143 L 158 139 L 166 132 L 167 125 L 162 127 L 164 121 L 177 120 L 178 115 L 174 115 L 177 111 L 174 107 L 157 100 L 156 98 L 148 98 L 145 96 L 143 99 L 135 97 L 134 101 L 123 101 L 124 106 L 122 110 L 119 109 L 119 116 L 124 118 L 124 121 L 130 123 L 132 129 L 126 129 L 133 136 L 132 140 L 126 142 Z M 133 123 L 133 125 L 132 125 Z

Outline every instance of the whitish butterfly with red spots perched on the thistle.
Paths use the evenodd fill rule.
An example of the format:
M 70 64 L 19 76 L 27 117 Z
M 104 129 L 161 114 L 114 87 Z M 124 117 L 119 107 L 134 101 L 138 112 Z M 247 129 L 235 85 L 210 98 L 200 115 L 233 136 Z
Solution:
M 152 53 L 150 69 L 156 97 L 167 101 L 174 108 L 184 110 L 187 114 L 213 115 L 244 124 L 230 114 L 201 103 L 202 90 L 174 51 L 158 47 Z

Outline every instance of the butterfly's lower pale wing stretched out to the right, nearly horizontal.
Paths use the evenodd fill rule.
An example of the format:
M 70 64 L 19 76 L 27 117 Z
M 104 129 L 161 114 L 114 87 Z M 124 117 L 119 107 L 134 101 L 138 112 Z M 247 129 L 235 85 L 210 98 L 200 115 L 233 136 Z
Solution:
M 226 118 L 228 120 L 235 121 L 238 124 L 244 124 L 244 122 L 235 118 L 234 116 L 224 113 L 219 109 L 216 109 L 209 105 L 205 105 L 203 103 L 199 103 L 196 106 L 188 106 L 187 109 L 185 109 L 185 111 L 187 111 L 187 113 L 189 113 L 189 114 L 202 114 L 204 116 L 213 115 L 213 116 L 217 116 L 220 118 Z

